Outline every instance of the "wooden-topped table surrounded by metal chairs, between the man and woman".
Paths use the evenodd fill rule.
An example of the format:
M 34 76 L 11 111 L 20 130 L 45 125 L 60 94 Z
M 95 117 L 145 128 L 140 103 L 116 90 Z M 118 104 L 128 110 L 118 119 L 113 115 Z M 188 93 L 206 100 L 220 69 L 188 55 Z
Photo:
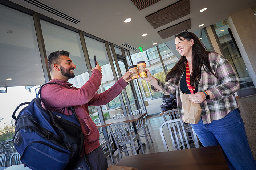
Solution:
M 135 125 L 134 122 L 139 120 L 139 119 L 142 119 L 146 115 L 147 115 L 147 112 L 142 113 L 142 114 L 138 114 L 138 115 L 126 116 L 126 117 L 121 118 L 121 119 L 109 119 L 109 120 L 106 120 L 105 122 L 97 124 L 96 126 L 98 128 L 100 128 L 100 127 L 110 126 L 113 123 L 131 122 L 133 124 L 134 133 L 138 134 L 137 129 L 136 129 L 136 125 Z M 112 136 L 112 134 L 111 134 L 111 136 Z M 113 136 L 112 136 L 112 139 L 113 139 Z M 114 139 L 113 139 L 113 141 L 114 141 Z M 137 139 L 137 142 L 138 142 L 138 145 L 139 145 L 139 140 L 138 139 Z M 145 145 L 145 144 L 142 144 L 142 145 Z M 117 150 L 117 146 L 114 143 L 114 150 L 112 151 L 112 153 L 114 153 L 115 150 Z M 139 149 L 137 150 L 137 153 L 139 154 Z

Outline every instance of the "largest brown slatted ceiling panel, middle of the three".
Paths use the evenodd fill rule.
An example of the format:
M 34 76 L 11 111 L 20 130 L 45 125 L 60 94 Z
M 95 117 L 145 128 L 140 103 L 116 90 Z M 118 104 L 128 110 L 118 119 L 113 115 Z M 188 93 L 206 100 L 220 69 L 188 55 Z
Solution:
M 190 14 L 189 0 L 180 0 L 145 18 L 154 29 Z

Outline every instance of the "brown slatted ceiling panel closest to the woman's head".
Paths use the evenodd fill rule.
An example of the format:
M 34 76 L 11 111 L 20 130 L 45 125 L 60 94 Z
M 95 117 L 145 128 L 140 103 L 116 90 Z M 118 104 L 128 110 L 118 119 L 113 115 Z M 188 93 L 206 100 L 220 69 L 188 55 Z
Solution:
M 181 33 L 184 30 L 191 29 L 190 19 L 180 22 L 179 24 L 170 26 L 164 30 L 158 31 L 158 34 L 163 38 L 171 37 L 172 35 L 176 35 Z

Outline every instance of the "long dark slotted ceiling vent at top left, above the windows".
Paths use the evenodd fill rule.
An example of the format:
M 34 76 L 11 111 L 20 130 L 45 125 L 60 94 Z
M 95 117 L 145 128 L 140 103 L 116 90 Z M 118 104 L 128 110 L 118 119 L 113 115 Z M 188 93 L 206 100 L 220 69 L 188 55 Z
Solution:
M 50 7 L 49 5 L 47 5 L 41 1 L 38 1 L 38 0 L 23 0 L 23 1 L 25 1 L 29 4 L 32 4 L 38 8 L 41 8 L 43 10 L 46 10 L 47 12 L 50 12 L 50 13 L 52 13 L 58 17 L 61 17 L 64 20 L 67 20 L 69 22 L 72 22 L 73 24 L 79 24 L 81 22 L 80 20 L 77 20 L 76 18 L 69 16 L 68 14 L 65 14 L 64 12 L 61 12 L 60 10 Z

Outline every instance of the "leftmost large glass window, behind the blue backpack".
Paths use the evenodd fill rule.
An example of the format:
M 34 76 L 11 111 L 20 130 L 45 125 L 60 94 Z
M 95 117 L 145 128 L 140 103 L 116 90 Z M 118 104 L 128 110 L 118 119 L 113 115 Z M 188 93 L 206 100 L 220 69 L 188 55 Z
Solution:
M 33 17 L 0 5 L 0 30 L 0 87 L 7 87 L 7 93 L 0 94 L 0 131 L 9 130 L 9 134 L 14 130 L 13 111 L 35 98 L 34 88 L 45 79 Z M 31 89 L 26 90 L 28 85 Z M 0 141 L 6 138 L 7 132 L 0 134 Z

